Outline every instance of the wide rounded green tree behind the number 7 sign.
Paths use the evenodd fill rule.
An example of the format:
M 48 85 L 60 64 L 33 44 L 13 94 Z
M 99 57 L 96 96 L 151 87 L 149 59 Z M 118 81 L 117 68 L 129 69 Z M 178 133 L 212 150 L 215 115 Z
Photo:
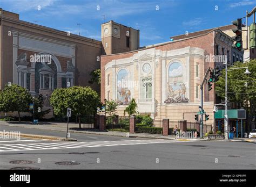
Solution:
M 79 128 L 83 116 L 95 115 L 99 105 L 98 93 L 91 87 L 70 87 L 55 89 L 50 98 L 50 104 L 56 116 L 65 116 L 68 107 L 72 115 L 78 116 Z

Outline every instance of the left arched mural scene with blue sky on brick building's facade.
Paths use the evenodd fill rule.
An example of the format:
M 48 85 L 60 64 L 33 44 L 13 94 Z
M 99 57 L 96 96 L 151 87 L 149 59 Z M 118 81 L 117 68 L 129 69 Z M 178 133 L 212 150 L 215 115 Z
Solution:
M 117 103 L 119 105 L 126 105 L 130 101 L 131 91 L 129 89 L 128 73 L 125 69 L 122 69 L 117 75 Z

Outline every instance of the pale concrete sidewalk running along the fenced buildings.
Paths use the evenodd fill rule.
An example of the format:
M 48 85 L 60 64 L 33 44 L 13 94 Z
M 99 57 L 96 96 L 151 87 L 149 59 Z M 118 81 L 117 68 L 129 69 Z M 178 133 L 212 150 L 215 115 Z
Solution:
M 67 123 L 65 122 L 39 122 L 39 125 L 32 125 L 31 122 L 21 122 L 18 121 L 0 121 L 0 125 L 7 125 L 11 127 L 24 127 L 24 128 L 34 128 L 39 130 L 48 130 L 48 131 L 64 131 L 66 132 Z M 69 123 L 69 132 L 70 133 L 85 133 L 85 134 L 96 134 L 96 135 L 110 135 L 110 136 L 122 136 L 127 137 L 129 135 L 130 138 L 152 138 L 152 139 L 166 139 L 166 140 L 181 140 L 181 141 L 250 141 L 245 138 L 238 138 L 232 140 L 206 140 L 204 139 L 175 139 L 174 135 L 163 136 L 160 134 L 144 134 L 144 133 L 126 133 L 126 132 L 117 132 L 117 131 L 99 131 L 99 130 L 79 130 L 79 124 Z M 83 128 L 83 124 L 81 124 Z M 72 128 L 77 128 L 78 130 L 72 130 Z

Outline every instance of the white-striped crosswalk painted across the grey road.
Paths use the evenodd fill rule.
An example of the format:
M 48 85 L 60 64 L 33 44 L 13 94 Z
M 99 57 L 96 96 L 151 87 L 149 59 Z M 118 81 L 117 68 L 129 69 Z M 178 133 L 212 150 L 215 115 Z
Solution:
M 86 147 L 124 146 L 141 145 L 150 143 L 174 143 L 177 140 L 119 140 L 119 141 L 86 141 L 86 142 L 56 142 L 56 143 L 18 143 L 0 145 L 1 152 L 15 152 L 24 150 L 44 150 L 44 149 L 68 149 Z

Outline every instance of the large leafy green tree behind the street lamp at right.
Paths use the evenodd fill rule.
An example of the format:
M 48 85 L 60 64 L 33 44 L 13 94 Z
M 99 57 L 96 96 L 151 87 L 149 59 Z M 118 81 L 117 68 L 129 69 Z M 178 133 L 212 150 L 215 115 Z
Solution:
M 256 60 L 251 60 L 246 63 L 236 62 L 230 68 L 248 67 L 251 74 L 244 74 L 245 69 L 235 69 L 228 71 L 227 99 L 230 102 L 238 104 L 238 109 L 244 107 L 247 111 L 248 121 L 251 123 L 255 117 L 256 105 Z M 219 81 L 215 85 L 217 95 L 225 99 L 225 69 L 221 70 Z M 250 125 L 248 123 L 248 127 Z M 248 129 L 248 128 L 247 128 Z

